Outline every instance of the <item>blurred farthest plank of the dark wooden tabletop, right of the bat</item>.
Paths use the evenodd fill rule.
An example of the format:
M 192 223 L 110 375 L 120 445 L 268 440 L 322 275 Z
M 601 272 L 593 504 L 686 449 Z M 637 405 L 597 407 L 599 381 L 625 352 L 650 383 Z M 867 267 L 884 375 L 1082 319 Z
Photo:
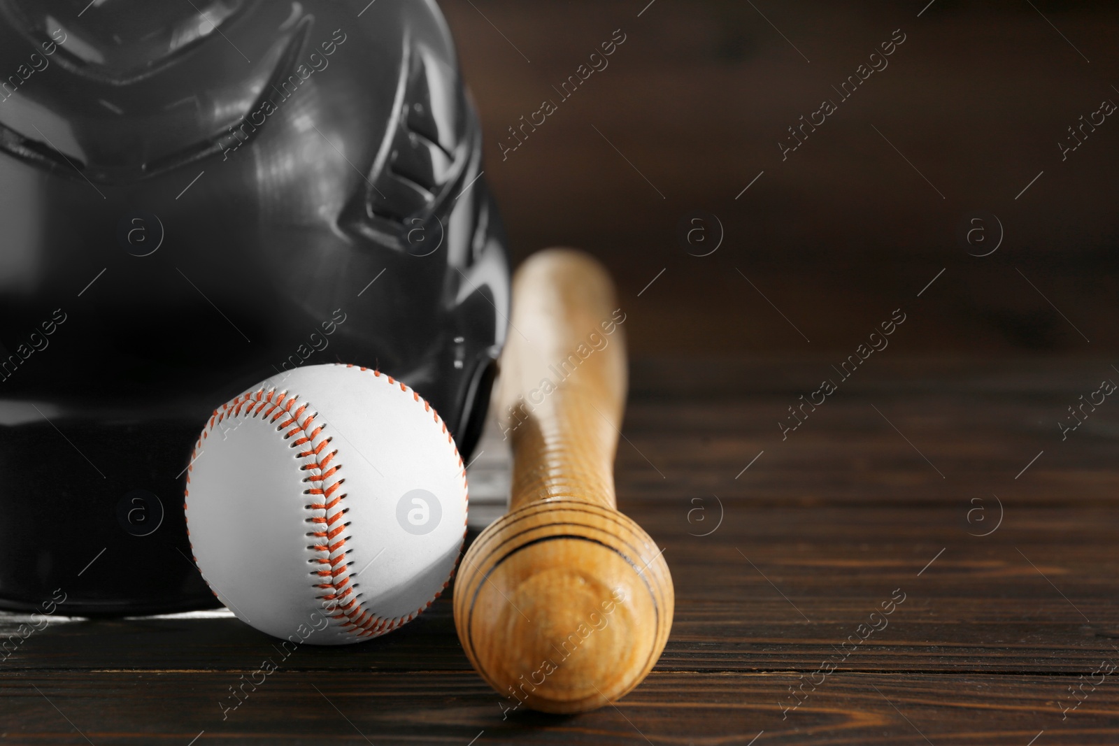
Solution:
M 1106 402 L 1068 440 L 1056 425 L 1109 370 L 1119 381 L 1107 361 L 890 353 L 872 356 L 846 381 L 827 358 L 638 362 L 619 494 L 716 493 L 778 506 L 969 506 L 993 494 L 1010 504 L 1115 504 L 1119 404 Z M 796 424 L 788 408 L 829 372 L 839 390 L 816 412 L 806 408 L 783 440 L 778 422 Z

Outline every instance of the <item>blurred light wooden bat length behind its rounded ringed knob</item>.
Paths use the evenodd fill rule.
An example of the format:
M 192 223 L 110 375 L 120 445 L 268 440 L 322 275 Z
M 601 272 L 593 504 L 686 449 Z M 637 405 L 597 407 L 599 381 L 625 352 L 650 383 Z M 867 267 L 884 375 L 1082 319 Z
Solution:
M 514 281 L 497 391 L 514 453 L 510 509 L 548 499 L 617 509 L 626 314 L 609 274 L 573 249 L 535 254 Z

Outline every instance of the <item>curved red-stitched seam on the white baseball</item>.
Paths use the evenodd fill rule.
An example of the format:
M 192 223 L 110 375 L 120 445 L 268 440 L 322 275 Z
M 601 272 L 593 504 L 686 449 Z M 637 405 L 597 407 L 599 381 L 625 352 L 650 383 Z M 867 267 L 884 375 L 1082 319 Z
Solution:
M 357 367 L 363 372 L 372 372 L 376 378 L 380 378 L 383 376 L 379 370 L 370 370 L 369 368 L 352 365 L 346 365 L 346 367 Z M 463 512 L 467 513 L 469 511 L 467 470 L 463 464 L 462 456 L 459 453 L 459 448 L 454 443 L 454 438 L 446 429 L 446 424 L 442 421 L 439 413 L 435 412 L 431 404 L 429 404 L 426 399 L 422 398 L 416 391 L 412 390 L 403 383 L 394 380 L 392 376 L 385 375 L 385 378 L 387 379 L 389 386 L 393 386 L 394 388 L 398 386 L 401 391 L 411 394 L 416 403 L 422 403 L 424 412 L 432 414 L 433 422 L 436 425 L 440 425 L 442 433 L 446 435 L 446 441 L 453 448 L 454 456 L 459 460 L 458 465 L 462 470 Z M 299 406 L 294 412 L 292 412 L 292 407 L 294 407 L 297 403 L 299 403 Z M 194 463 L 199 455 L 204 441 L 209 437 L 209 433 L 213 432 L 214 427 L 222 424 L 226 418 L 247 416 L 257 418 L 262 414 L 263 418 L 271 418 L 270 424 L 275 424 L 281 417 L 288 415 L 288 418 L 284 422 L 276 425 L 276 432 L 283 432 L 286 429 L 282 436 L 284 442 L 290 441 L 292 437 L 297 438 L 289 447 L 294 448 L 302 445 L 308 446 L 307 450 L 301 451 L 298 454 L 298 457 L 304 460 L 299 470 L 301 472 L 311 472 L 308 476 L 302 479 L 302 482 L 309 484 L 308 489 L 303 491 L 303 494 L 312 495 L 312 500 L 314 498 L 318 499 L 317 502 L 311 502 L 304 506 L 304 509 L 311 513 L 309 518 L 304 519 L 305 522 L 311 523 L 317 529 L 307 533 L 308 537 L 312 537 L 317 540 L 317 544 L 307 547 L 309 550 L 314 553 L 314 556 L 309 559 L 308 563 L 320 566 L 319 569 L 310 573 L 310 575 L 314 578 L 312 587 L 316 593 L 316 599 L 323 602 L 323 608 L 328 612 L 337 612 L 330 614 L 330 617 L 338 622 L 338 626 L 336 629 L 345 630 L 346 632 L 349 632 L 358 638 L 375 638 L 411 622 L 424 610 L 431 606 L 432 603 L 434 603 L 434 601 L 439 598 L 443 591 L 450 585 L 451 579 L 454 577 L 455 570 L 458 569 L 458 564 L 462 555 L 462 542 L 466 541 L 467 520 L 463 520 L 462 541 L 459 546 L 459 554 L 455 557 L 454 566 L 451 568 L 451 572 L 443 582 L 440 591 L 435 592 L 435 595 L 432 596 L 427 603 L 406 616 L 402 615 L 396 617 L 382 617 L 365 608 L 360 601 L 361 594 L 356 593 L 356 588 L 359 584 L 350 582 L 349 566 L 354 563 L 345 561 L 347 555 L 352 551 L 352 548 L 347 548 L 346 546 L 347 540 L 351 537 L 344 536 L 346 528 L 350 525 L 348 521 L 344 521 L 345 514 L 349 511 L 349 509 L 342 504 L 347 493 L 341 492 L 335 497 L 335 493 L 341 489 L 341 485 L 346 481 L 344 476 L 339 476 L 342 464 L 335 463 L 335 459 L 338 456 L 338 450 L 331 450 L 323 455 L 323 452 L 329 448 L 333 437 L 323 436 L 323 431 L 327 428 L 327 425 L 316 425 L 318 412 L 313 409 L 310 403 L 301 400 L 298 395 L 290 395 L 286 390 L 279 391 L 276 388 L 265 390 L 265 388 L 262 387 L 254 391 L 246 391 L 233 400 L 222 405 L 220 409 L 215 409 L 214 414 L 210 416 L 209 423 L 195 444 L 194 453 L 191 453 L 190 465 L 187 468 L 187 489 L 185 497 L 189 498 L 190 495 L 190 473 L 194 471 Z M 300 422 L 301 419 L 302 422 Z M 186 512 L 186 502 L 182 507 Z M 189 514 L 187 516 L 187 536 L 189 538 Z M 336 538 L 338 539 L 337 541 L 335 541 Z M 197 565 L 198 558 L 194 557 L 192 542 L 190 548 L 195 565 Z M 214 592 L 213 588 L 211 592 Z M 320 595 L 320 592 L 323 593 Z M 217 593 L 214 593 L 214 595 L 216 596 Z

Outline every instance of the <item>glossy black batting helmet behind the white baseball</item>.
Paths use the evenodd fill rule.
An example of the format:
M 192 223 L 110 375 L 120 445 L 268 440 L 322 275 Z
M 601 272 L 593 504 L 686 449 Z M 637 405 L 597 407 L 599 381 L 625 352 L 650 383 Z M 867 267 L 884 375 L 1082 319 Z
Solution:
M 477 441 L 508 259 L 434 2 L 0 0 L 0 606 L 215 605 L 190 448 L 292 368 Z

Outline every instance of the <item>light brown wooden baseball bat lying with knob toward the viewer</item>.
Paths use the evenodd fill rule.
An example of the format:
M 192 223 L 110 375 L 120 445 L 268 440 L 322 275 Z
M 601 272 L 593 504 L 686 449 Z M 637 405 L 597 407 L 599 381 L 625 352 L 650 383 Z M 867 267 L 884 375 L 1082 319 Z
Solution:
M 581 252 L 540 252 L 514 278 L 496 391 L 510 509 L 467 551 L 454 588 L 459 639 L 507 711 L 602 707 L 645 679 L 668 640 L 668 566 L 614 498 L 623 322 L 605 270 Z

